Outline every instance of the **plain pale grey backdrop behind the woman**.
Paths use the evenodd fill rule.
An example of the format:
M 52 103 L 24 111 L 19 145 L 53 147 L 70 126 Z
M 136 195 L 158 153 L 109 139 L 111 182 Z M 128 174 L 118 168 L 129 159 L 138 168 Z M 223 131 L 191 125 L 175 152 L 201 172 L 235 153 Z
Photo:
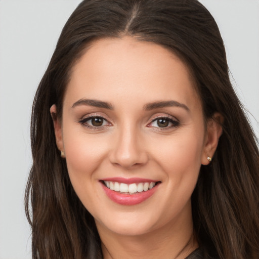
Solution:
M 0 0 L 0 259 L 31 258 L 23 208 L 31 166 L 31 104 L 61 29 L 79 2 Z M 218 22 L 234 87 L 259 137 L 259 1 L 201 2 Z

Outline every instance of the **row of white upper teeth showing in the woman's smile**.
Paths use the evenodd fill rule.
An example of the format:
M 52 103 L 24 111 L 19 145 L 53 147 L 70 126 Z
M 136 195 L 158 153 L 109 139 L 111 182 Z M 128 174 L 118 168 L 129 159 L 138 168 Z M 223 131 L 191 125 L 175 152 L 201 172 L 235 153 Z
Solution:
M 139 184 L 124 184 L 118 182 L 109 182 L 104 181 L 104 184 L 107 188 L 115 192 L 122 192 L 122 193 L 136 193 L 136 192 L 143 192 L 152 189 L 155 186 L 155 182 L 151 183 L 139 183 Z

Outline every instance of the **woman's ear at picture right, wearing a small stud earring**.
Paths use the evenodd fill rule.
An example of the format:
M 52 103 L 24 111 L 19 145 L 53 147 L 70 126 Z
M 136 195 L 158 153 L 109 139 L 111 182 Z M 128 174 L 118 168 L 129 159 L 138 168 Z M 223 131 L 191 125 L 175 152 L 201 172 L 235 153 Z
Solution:
M 223 122 L 224 117 L 218 112 L 214 113 L 214 115 L 207 121 L 206 136 L 201 158 L 201 163 L 204 165 L 209 164 L 210 161 L 207 157 L 212 158 L 217 149 L 219 139 L 222 135 Z

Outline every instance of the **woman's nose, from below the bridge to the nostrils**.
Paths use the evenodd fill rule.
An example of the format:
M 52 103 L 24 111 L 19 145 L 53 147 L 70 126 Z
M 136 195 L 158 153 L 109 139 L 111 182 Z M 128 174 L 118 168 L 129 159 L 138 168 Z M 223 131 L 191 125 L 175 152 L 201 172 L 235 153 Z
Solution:
M 110 153 L 110 162 L 124 168 L 141 166 L 147 163 L 148 154 L 144 139 L 134 127 L 124 126 L 118 130 Z

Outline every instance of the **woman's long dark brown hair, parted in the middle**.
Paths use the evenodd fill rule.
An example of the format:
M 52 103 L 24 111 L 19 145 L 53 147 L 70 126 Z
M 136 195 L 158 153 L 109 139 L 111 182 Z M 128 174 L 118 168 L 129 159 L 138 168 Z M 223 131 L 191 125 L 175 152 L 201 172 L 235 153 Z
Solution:
M 205 119 L 215 112 L 224 116 L 213 161 L 201 166 L 192 195 L 194 232 L 204 256 L 258 258 L 258 148 L 232 88 L 213 17 L 196 0 L 85 0 L 65 24 L 33 102 L 33 165 L 25 197 L 33 259 L 102 258 L 94 219 L 60 158 L 50 107 L 56 104 L 62 118 L 71 68 L 93 40 L 124 35 L 177 54 L 193 73 Z

